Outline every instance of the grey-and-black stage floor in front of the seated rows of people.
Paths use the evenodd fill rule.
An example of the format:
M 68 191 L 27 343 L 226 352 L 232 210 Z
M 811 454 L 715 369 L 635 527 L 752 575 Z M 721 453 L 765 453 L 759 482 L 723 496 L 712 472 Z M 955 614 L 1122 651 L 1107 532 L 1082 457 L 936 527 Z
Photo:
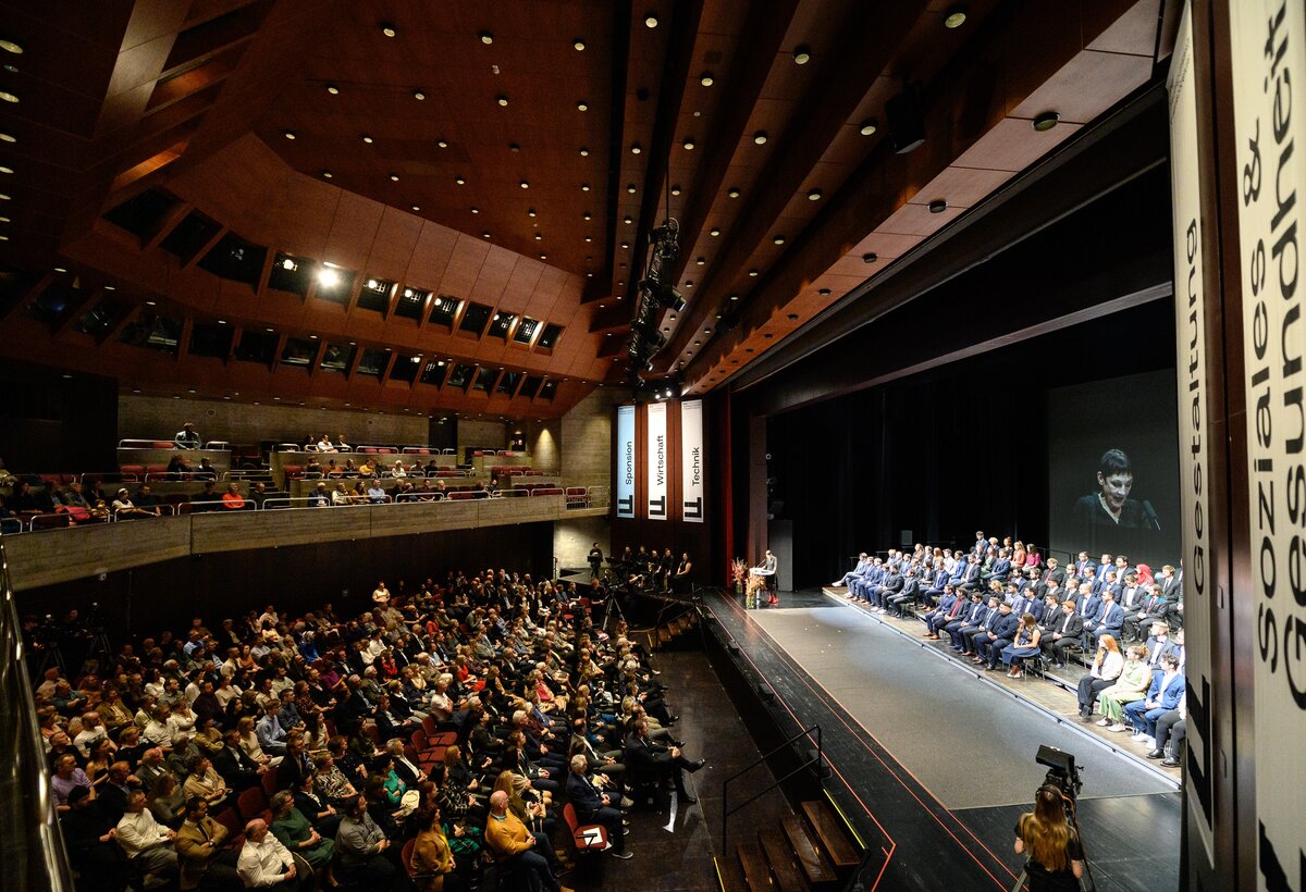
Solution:
M 1010 889 L 1023 862 L 1012 827 L 1046 772 L 1040 744 L 1081 767 L 1097 888 L 1178 885 L 1181 797 L 1164 772 L 819 590 L 761 609 L 714 592 L 704 609 L 793 731 L 821 726 L 827 790 L 880 849 L 866 888 Z

